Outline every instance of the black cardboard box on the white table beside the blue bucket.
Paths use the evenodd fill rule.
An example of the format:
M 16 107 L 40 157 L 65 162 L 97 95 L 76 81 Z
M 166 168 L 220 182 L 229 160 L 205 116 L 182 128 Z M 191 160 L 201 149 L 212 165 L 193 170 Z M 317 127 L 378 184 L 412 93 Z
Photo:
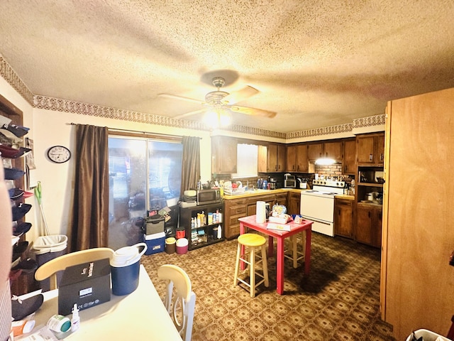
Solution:
M 109 259 L 68 266 L 58 288 L 58 313 L 70 315 L 74 303 L 79 310 L 111 301 Z

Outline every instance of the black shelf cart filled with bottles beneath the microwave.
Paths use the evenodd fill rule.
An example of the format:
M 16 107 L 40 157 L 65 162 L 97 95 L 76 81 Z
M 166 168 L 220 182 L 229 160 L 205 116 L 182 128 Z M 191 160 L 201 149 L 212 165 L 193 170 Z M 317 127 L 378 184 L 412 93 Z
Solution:
M 223 213 L 223 202 L 179 207 L 179 229 L 185 231 L 189 250 L 224 240 Z

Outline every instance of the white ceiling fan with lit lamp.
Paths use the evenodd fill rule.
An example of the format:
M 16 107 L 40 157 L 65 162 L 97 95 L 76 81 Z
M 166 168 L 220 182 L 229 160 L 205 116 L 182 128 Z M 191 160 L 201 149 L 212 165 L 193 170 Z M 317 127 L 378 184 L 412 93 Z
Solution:
M 187 102 L 193 102 L 197 104 L 202 104 L 206 106 L 206 109 L 196 110 L 194 112 L 187 112 L 185 114 L 178 115 L 175 119 L 181 119 L 182 117 L 187 117 L 194 114 L 201 114 L 204 112 L 214 111 L 220 113 L 222 112 L 239 112 L 241 114 L 255 115 L 259 117 L 268 117 L 272 118 L 276 116 L 276 112 L 270 112 L 268 110 L 251 108 L 251 107 L 242 107 L 236 105 L 237 102 L 247 99 L 248 97 L 258 94 L 258 90 L 249 85 L 243 87 L 243 89 L 229 94 L 228 92 L 221 91 L 221 87 L 225 85 L 226 81 L 223 77 L 214 77 L 213 85 L 216 87 L 216 91 L 211 91 L 205 95 L 205 100 L 201 101 L 199 99 L 193 99 L 189 97 L 177 96 L 175 94 L 159 94 L 162 97 L 168 97 L 173 99 L 182 99 Z

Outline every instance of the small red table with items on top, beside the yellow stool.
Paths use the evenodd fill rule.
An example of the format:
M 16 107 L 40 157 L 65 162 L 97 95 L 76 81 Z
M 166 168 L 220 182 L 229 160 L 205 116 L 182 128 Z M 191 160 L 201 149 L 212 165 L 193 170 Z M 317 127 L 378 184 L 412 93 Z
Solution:
M 304 254 L 304 274 L 309 275 L 311 269 L 311 220 L 303 220 L 301 224 L 289 222 L 290 231 L 267 229 L 267 222 L 255 222 L 255 215 L 238 219 L 240 221 L 240 234 L 245 233 L 245 227 L 254 229 L 268 235 L 268 256 L 274 253 L 273 238 L 277 238 L 277 288 L 279 295 L 284 293 L 284 239 L 299 232 L 306 231 L 306 251 Z M 244 254 L 244 246 L 241 247 L 241 254 Z M 244 264 L 242 264 L 244 266 Z

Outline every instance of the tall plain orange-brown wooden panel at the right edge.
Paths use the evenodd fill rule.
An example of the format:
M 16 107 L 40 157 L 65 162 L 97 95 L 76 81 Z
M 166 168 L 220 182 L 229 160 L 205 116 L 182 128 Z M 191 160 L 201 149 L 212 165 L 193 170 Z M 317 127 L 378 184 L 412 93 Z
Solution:
M 454 88 L 387 105 L 381 305 L 396 340 L 445 335 L 454 314 L 453 113 Z

